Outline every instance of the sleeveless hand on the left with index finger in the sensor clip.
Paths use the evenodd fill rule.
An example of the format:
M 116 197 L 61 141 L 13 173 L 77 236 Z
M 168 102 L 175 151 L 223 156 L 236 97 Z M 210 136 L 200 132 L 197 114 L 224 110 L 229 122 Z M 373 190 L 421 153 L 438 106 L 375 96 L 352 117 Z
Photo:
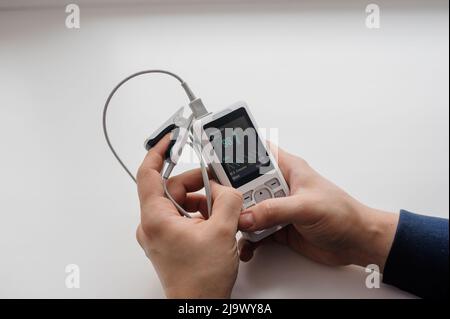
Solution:
M 212 215 L 185 218 L 164 196 L 160 175 L 166 136 L 147 154 L 137 184 L 141 223 L 136 237 L 153 263 L 168 298 L 228 298 L 236 281 L 239 257 L 236 232 L 242 207 L 241 194 L 211 182 Z M 207 214 L 200 170 L 168 180 L 172 197 L 187 211 Z

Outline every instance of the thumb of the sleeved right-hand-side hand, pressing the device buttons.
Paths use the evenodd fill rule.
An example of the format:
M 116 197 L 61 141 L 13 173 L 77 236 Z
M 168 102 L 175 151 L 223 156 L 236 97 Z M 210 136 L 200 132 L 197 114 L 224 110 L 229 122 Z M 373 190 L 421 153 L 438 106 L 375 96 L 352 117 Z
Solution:
M 300 222 L 305 212 L 305 200 L 298 196 L 271 198 L 262 201 L 242 212 L 239 229 L 255 231 L 281 224 Z

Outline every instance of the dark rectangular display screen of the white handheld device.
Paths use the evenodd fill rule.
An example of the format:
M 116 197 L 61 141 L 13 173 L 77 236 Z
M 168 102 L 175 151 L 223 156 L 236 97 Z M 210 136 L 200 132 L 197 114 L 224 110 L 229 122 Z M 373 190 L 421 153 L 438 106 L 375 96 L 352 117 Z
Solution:
M 245 108 L 236 109 L 203 128 L 233 187 L 273 169 Z

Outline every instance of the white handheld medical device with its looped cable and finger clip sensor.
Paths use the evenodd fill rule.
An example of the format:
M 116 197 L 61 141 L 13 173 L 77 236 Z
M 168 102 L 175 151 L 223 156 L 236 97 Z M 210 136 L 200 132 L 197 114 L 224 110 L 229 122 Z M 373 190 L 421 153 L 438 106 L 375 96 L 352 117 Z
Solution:
M 208 113 L 201 99 L 193 94 L 187 83 L 176 74 L 165 70 L 147 70 L 128 76 L 111 91 L 103 109 L 103 132 L 106 142 L 133 181 L 136 182 L 136 178 L 111 144 L 106 126 L 106 114 L 112 97 L 125 82 L 148 73 L 162 73 L 176 78 L 189 98 L 189 107 L 192 111 L 189 116 L 184 116 L 184 108 L 180 108 L 144 143 L 144 147 L 149 150 L 167 133 L 172 133 L 161 175 L 165 194 L 180 214 L 191 217 L 172 198 L 166 187 L 166 181 L 186 144 L 190 145 L 199 156 L 209 215 L 211 214 L 211 192 L 206 166 L 219 183 L 234 187 L 243 194 L 243 208 L 251 207 L 265 199 L 289 195 L 289 187 L 275 158 L 266 147 L 265 141 L 260 138 L 258 127 L 248 106 L 244 102 L 238 102 L 220 112 Z M 283 225 L 253 233 L 243 233 L 243 236 L 255 242 L 281 227 Z

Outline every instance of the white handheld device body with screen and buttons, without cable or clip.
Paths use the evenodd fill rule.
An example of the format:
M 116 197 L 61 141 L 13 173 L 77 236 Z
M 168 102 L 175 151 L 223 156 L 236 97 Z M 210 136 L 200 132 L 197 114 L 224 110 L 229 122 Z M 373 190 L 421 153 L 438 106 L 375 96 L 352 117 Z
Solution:
M 245 102 L 237 102 L 216 113 L 209 113 L 193 125 L 194 141 L 220 184 L 243 195 L 243 208 L 265 199 L 285 197 L 289 187 L 275 158 L 258 132 L 258 126 Z M 259 241 L 282 226 L 243 232 L 250 241 Z

